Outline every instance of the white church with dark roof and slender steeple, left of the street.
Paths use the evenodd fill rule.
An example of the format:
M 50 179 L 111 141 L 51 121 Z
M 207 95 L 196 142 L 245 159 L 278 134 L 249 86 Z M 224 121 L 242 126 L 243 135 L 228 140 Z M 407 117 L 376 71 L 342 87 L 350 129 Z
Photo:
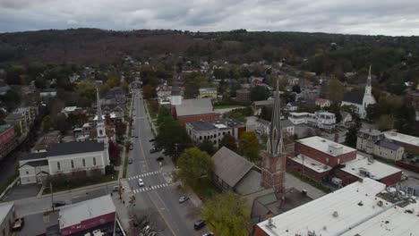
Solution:
M 98 92 L 97 92 L 98 93 Z M 98 117 L 102 116 L 98 98 Z M 21 184 L 42 183 L 48 175 L 99 170 L 110 164 L 103 119 L 96 122 L 97 137 L 85 141 L 57 143 L 46 152 L 30 153 L 19 161 Z

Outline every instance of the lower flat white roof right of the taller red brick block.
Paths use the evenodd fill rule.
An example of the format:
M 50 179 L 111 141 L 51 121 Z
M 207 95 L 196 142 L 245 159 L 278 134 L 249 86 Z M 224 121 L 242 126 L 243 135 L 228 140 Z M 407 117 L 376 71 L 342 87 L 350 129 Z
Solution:
M 379 161 L 368 159 L 368 157 L 360 155 L 357 155 L 355 160 L 346 162 L 345 167 L 341 168 L 341 170 L 355 175 L 358 178 L 370 177 L 377 181 L 393 173 L 401 172 L 398 168 L 389 164 L 383 164 Z M 369 176 L 365 176 L 364 172 L 368 172 Z

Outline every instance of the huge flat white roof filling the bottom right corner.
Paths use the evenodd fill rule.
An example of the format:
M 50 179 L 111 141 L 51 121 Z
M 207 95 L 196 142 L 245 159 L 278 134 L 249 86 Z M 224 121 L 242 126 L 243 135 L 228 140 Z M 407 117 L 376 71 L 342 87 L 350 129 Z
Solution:
M 274 216 L 271 223 L 269 220 L 258 223 L 258 226 L 272 236 L 308 235 L 309 231 L 321 236 L 418 235 L 417 198 L 416 203 L 408 206 L 390 207 L 391 203 L 376 197 L 385 187 L 379 181 L 365 178 L 363 182 L 356 181 L 303 206 Z M 379 201 L 382 201 L 382 206 L 377 205 Z M 406 213 L 406 210 L 412 209 L 413 214 Z

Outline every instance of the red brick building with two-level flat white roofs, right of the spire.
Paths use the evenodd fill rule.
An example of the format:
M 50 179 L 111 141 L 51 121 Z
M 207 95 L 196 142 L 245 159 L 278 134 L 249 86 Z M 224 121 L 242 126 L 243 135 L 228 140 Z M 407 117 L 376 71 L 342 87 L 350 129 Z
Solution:
M 356 150 L 318 136 L 295 142 L 295 156 L 286 160 L 288 171 L 302 173 L 314 181 L 335 179 L 349 184 L 365 177 L 393 185 L 401 180 L 398 168 L 359 156 Z

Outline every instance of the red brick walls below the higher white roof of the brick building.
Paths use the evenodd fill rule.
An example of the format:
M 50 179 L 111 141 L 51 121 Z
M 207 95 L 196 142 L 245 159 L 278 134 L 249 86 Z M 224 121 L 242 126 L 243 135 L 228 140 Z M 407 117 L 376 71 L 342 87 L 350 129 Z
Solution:
M 310 158 L 321 162 L 322 164 L 327 164 L 331 167 L 338 165 L 338 159 L 340 159 L 339 164 L 346 163 L 347 161 L 354 160 L 356 158 L 356 150 L 349 152 L 340 156 L 330 156 L 324 152 L 316 150 L 312 147 L 305 146 L 299 142 L 295 142 L 295 155 L 303 154 L 304 156 L 309 156 Z M 329 158 L 329 162 L 327 159 Z

